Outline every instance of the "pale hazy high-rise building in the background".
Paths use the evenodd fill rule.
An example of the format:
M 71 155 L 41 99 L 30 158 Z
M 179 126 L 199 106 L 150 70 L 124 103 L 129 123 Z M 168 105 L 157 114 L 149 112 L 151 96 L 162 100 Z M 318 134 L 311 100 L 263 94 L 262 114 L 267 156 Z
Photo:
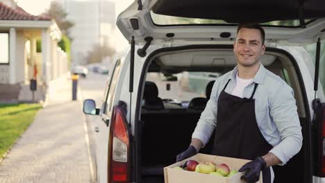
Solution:
M 110 36 L 115 28 L 115 3 L 107 0 L 56 0 L 63 5 L 67 19 L 74 22 L 72 37 L 72 64 L 86 64 L 86 57 L 94 45 L 112 44 Z M 101 60 L 99 60 L 101 61 Z

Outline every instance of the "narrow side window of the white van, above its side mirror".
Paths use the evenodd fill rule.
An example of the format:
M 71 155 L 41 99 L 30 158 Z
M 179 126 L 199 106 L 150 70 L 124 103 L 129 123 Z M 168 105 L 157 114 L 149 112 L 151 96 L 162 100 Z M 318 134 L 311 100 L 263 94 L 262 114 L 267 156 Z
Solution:
M 115 64 L 115 68 L 113 69 L 113 75 L 112 79 L 110 80 L 110 85 L 108 87 L 108 93 L 107 93 L 107 98 L 106 98 L 106 110 L 104 111 L 105 114 L 108 114 L 110 116 L 110 113 L 112 112 L 113 109 L 113 101 L 114 101 L 114 96 L 115 96 L 115 89 L 116 89 L 116 84 L 117 84 L 117 78 L 119 77 L 119 73 L 121 71 L 121 60 L 117 60 Z

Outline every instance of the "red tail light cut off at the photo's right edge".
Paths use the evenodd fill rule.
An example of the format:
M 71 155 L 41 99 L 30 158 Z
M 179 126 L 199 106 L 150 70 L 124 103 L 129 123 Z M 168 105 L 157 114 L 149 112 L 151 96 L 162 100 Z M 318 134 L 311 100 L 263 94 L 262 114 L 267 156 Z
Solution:
M 320 113 L 320 112 L 319 112 Z M 320 156 L 321 156 L 321 168 L 320 168 L 320 175 L 321 177 L 325 177 L 325 108 L 322 107 L 322 113 L 319 114 L 319 116 L 321 116 L 321 120 L 322 121 L 319 121 L 322 123 L 322 133 L 321 134 L 321 141 L 320 141 L 320 147 L 319 147 L 319 150 L 320 150 Z

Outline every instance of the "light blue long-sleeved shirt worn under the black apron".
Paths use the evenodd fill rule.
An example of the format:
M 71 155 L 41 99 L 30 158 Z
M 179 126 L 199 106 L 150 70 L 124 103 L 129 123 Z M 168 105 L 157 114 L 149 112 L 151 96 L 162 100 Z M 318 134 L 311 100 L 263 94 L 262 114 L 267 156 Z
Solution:
M 232 94 L 237 72 L 238 66 L 215 80 L 210 100 L 192 134 L 192 138 L 200 139 L 204 146 L 217 128 L 219 94 L 229 79 L 231 80 L 225 92 Z M 280 77 L 265 69 L 263 64 L 260 64 L 253 82 L 244 88 L 243 97 L 251 97 L 255 83 L 258 83 L 253 96 L 258 128 L 265 140 L 273 146 L 269 153 L 276 155 L 283 162 L 281 165 L 284 165 L 299 152 L 303 139 L 293 89 Z

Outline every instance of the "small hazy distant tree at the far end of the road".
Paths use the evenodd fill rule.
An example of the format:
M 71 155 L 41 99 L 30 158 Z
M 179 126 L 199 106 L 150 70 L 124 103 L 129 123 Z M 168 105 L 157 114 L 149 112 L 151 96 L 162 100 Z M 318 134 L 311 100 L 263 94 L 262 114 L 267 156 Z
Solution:
M 115 49 L 108 45 L 96 44 L 93 48 L 94 49 L 92 49 L 92 51 L 88 52 L 88 63 L 101 62 L 103 58 L 106 58 L 107 56 L 112 56 L 115 53 Z

